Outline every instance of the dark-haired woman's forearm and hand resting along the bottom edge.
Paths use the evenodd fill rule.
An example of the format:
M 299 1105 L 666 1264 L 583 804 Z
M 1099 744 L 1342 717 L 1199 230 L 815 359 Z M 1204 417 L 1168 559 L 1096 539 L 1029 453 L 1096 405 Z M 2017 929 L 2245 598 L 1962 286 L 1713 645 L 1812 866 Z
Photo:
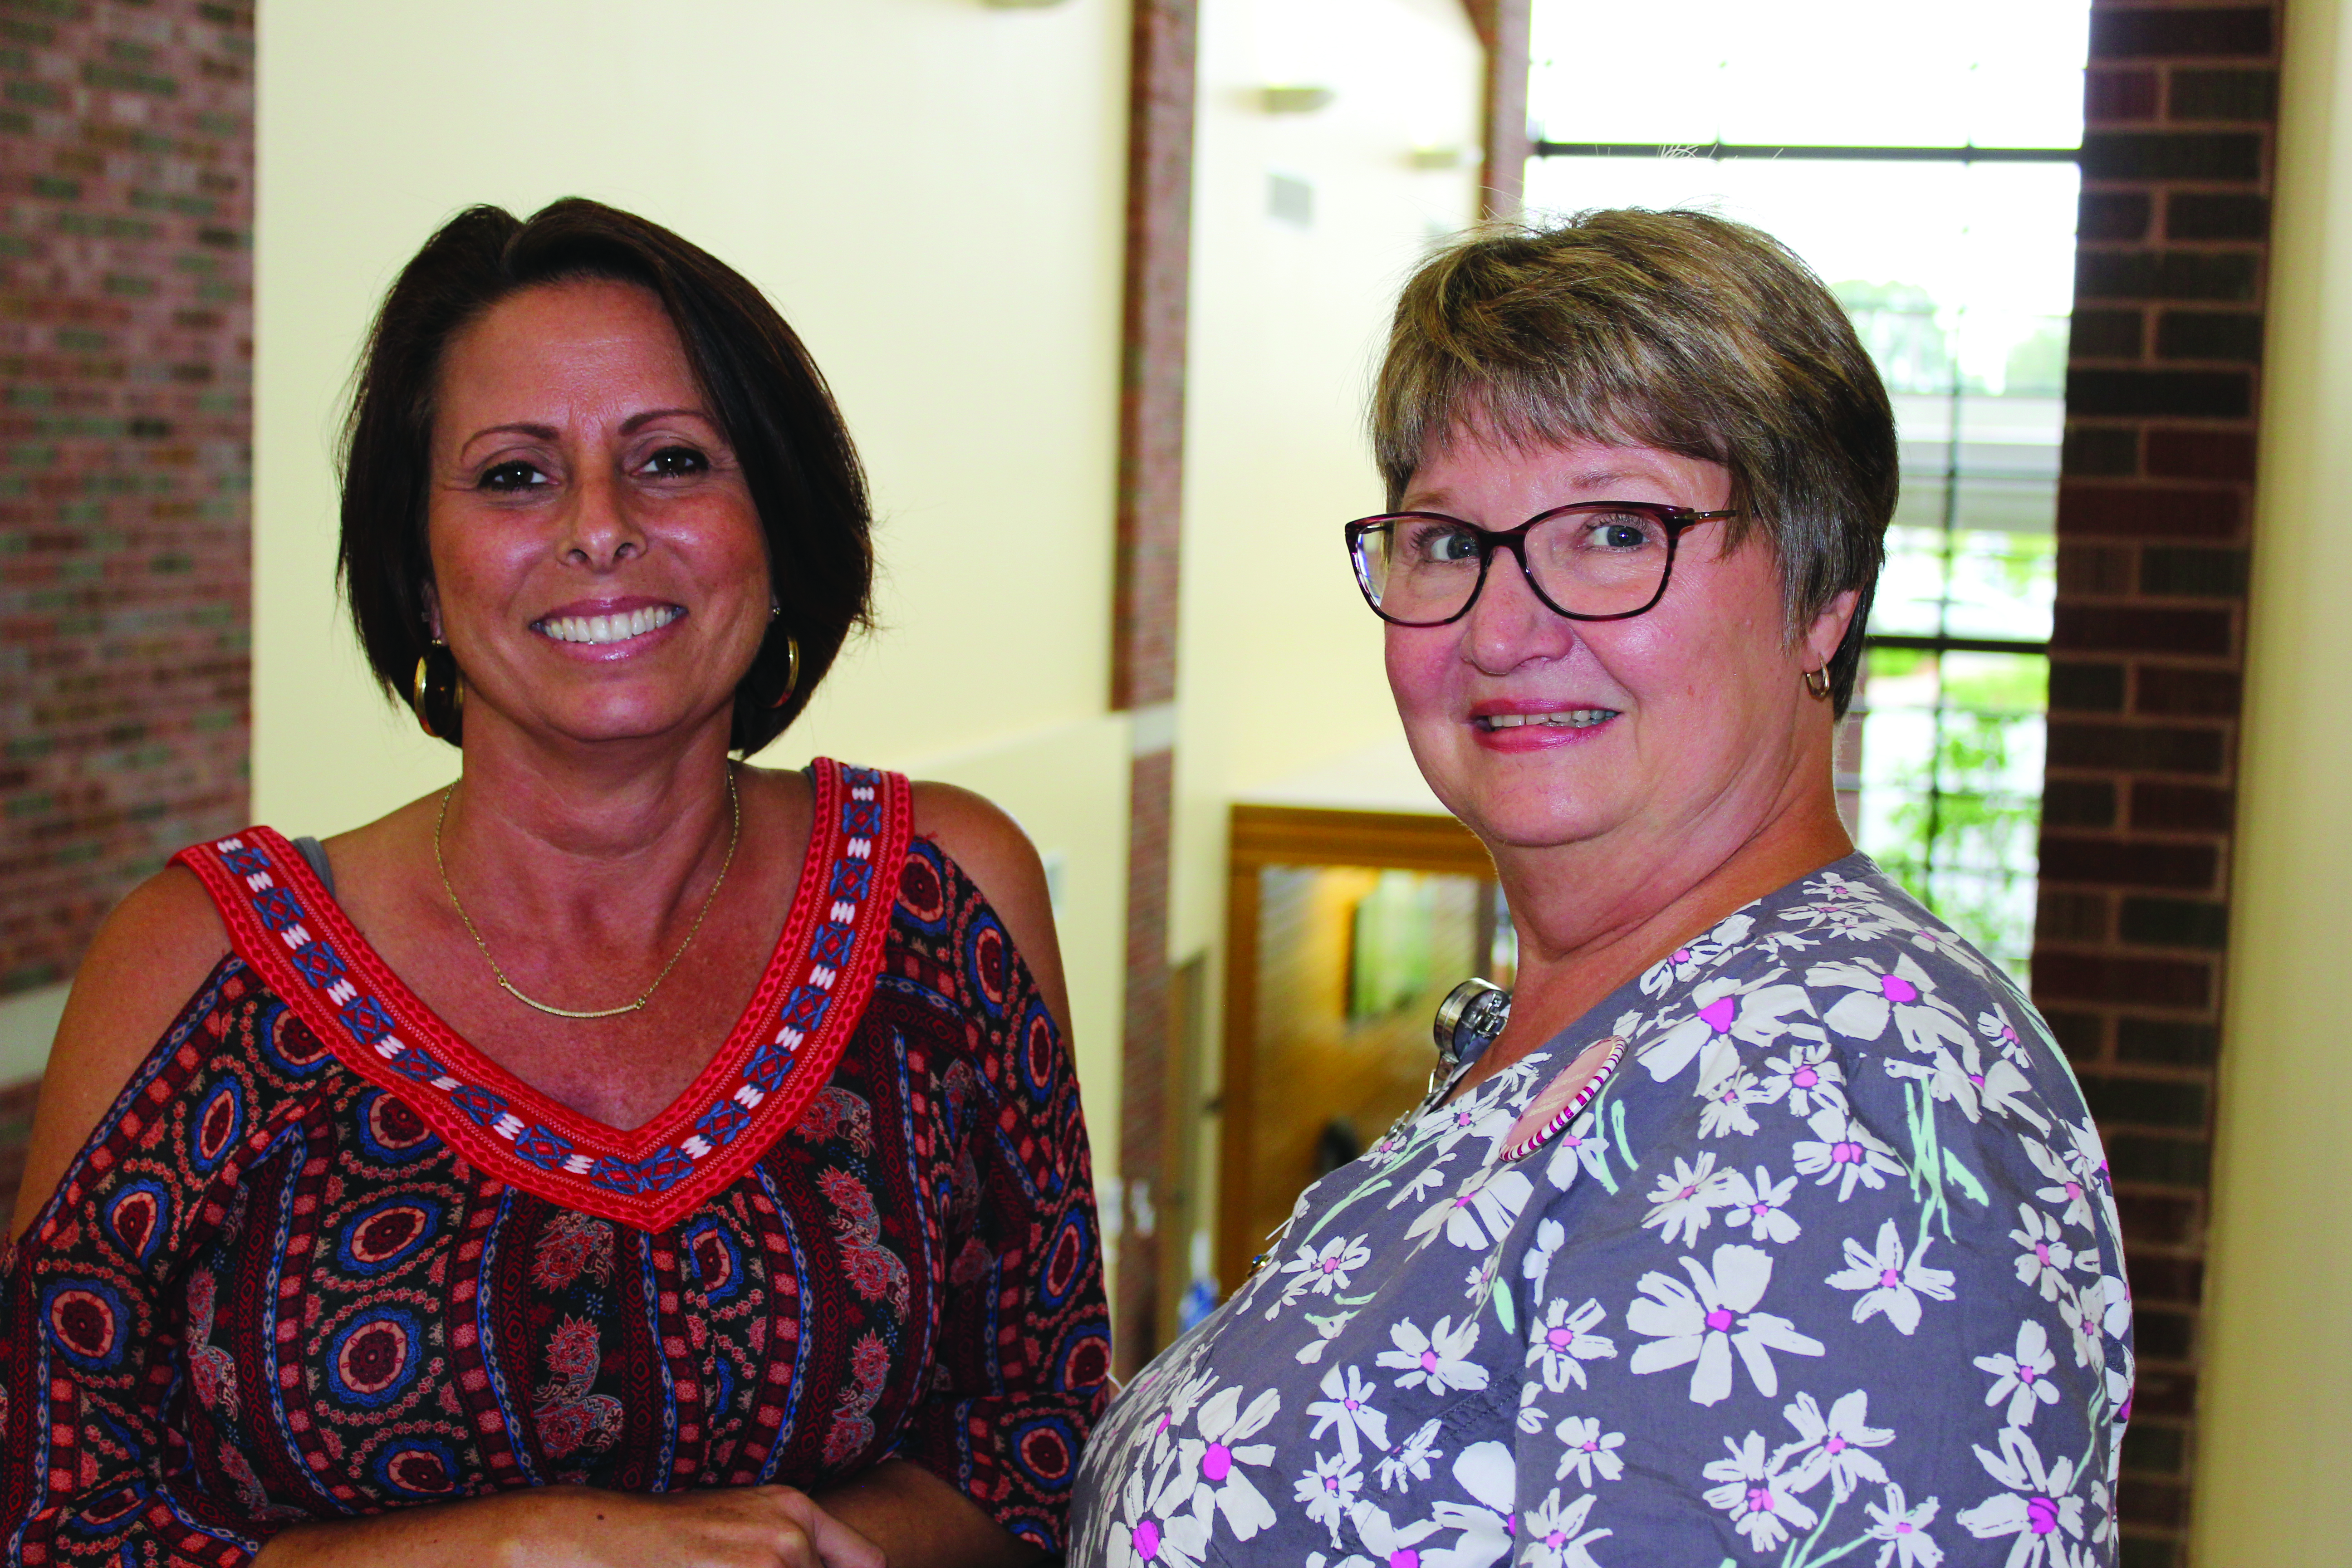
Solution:
M 607 1493 L 548 1486 L 282 1533 L 256 1568 L 887 1568 L 790 1486 Z

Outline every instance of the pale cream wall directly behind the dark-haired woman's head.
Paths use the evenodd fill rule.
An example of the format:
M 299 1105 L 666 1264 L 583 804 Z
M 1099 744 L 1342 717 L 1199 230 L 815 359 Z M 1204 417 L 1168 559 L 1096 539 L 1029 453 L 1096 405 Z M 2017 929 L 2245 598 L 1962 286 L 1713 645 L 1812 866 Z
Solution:
M 383 287 L 470 202 L 633 207 L 769 292 L 875 480 L 882 632 L 764 762 L 910 769 L 1023 818 L 1115 1171 L 1127 7 L 273 5 L 259 92 L 254 813 L 336 832 L 456 762 L 374 691 L 332 592 L 336 414 Z

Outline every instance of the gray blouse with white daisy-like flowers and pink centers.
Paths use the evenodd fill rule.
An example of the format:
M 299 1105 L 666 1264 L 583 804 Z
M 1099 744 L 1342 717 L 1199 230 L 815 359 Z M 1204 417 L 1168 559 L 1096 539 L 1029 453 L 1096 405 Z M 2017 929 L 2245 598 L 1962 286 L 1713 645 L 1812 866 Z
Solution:
M 1536 1100 L 1606 1037 L 1562 1126 Z M 2016 985 L 1870 860 L 1442 1100 L 1120 1396 L 1073 1563 L 2114 1561 L 2098 1133 Z

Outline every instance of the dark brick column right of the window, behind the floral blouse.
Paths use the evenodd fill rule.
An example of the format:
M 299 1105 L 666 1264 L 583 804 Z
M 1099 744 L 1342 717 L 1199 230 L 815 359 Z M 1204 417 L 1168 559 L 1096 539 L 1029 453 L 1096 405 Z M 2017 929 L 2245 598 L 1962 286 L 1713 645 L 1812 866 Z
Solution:
M 2194 1465 L 2274 49 L 2272 5 L 2091 9 L 2032 980 L 2124 1211 L 2131 1568 Z

